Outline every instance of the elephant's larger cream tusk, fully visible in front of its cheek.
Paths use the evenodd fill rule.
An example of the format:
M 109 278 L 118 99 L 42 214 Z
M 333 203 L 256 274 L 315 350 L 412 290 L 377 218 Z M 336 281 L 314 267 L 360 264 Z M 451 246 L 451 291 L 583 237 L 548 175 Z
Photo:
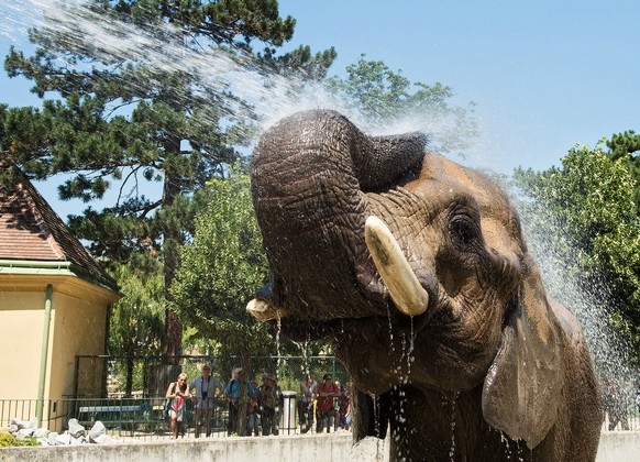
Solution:
M 429 305 L 429 294 L 420 285 L 385 222 L 377 217 L 368 217 L 364 224 L 364 239 L 398 309 L 407 316 L 422 315 Z

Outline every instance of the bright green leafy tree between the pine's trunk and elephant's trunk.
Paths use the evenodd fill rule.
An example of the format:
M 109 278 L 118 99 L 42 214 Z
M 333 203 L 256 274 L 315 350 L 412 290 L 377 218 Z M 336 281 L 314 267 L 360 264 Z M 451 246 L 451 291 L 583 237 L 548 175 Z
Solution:
M 172 286 L 176 310 L 202 336 L 216 339 L 220 354 L 273 354 L 269 327 L 245 312 L 268 276 L 249 176 L 232 168 L 227 179 L 209 183 L 207 198 Z

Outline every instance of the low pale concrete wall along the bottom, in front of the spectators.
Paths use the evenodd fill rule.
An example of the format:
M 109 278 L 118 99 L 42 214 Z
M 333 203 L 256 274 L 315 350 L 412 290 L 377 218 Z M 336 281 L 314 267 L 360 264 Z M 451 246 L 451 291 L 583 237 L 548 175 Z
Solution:
M 637 462 L 640 432 L 605 432 L 596 462 Z M 366 440 L 352 447 L 350 433 L 0 449 L 0 461 L 65 462 L 368 462 L 388 460 L 388 442 Z

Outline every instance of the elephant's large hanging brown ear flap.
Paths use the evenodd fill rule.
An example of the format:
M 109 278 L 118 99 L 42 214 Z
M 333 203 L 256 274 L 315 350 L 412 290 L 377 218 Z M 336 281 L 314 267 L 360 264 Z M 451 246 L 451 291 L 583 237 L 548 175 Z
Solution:
M 485 377 L 483 415 L 492 427 L 533 449 L 558 418 L 564 346 L 560 323 L 529 254 L 523 274 L 501 344 Z

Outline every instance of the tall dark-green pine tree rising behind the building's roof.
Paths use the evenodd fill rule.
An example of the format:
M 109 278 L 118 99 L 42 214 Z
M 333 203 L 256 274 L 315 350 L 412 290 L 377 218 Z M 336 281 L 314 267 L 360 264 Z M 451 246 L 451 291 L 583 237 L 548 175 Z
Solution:
M 135 30 L 145 40 L 139 46 L 143 53 L 126 43 L 91 41 L 55 18 L 32 30 L 34 55 L 12 47 L 4 67 L 11 77 L 33 80 L 32 91 L 41 98 L 55 99 L 45 99 L 42 108 L 0 106 L 0 151 L 33 178 L 68 174 L 58 188 L 63 199 L 91 204 L 118 186 L 115 204 L 101 210 L 89 206 L 70 216 L 69 226 L 108 261 L 125 262 L 140 251 L 162 255 L 163 356 L 169 363 L 181 353 L 169 287 L 179 248 L 192 233 L 190 198 L 239 158 L 255 114 L 228 84 L 211 88 L 197 73 L 145 59 L 145 54 L 165 56 L 170 64 L 170 46 L 194 58 L 214 48 L 231 62 L 320 79 L 335 52 L 312 55 L 300 47 L 276 57 L 296 23 L 279 16 L 276 0 L 102 0 L 59 8 L 69 9 L 67 18 L 90 18 L 96 26 Z M 106 42 L 117 42 L 119 33 Z M 264 51 L 254 53 L 255 43 Z M 162 185 L 158 199 L 144 194 L 144 184 L 154 182 Z

